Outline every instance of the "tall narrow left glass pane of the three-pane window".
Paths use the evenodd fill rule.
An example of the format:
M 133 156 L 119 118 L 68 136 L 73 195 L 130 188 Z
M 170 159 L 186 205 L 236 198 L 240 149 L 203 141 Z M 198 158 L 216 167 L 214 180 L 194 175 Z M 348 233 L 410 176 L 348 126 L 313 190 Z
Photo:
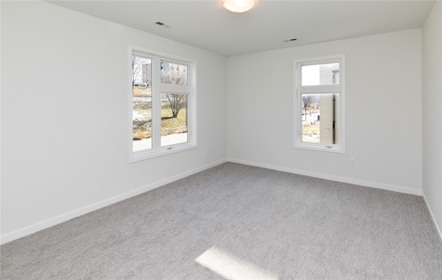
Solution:
M 133 152 L 152 148 L 152 61 L 132 56 Z

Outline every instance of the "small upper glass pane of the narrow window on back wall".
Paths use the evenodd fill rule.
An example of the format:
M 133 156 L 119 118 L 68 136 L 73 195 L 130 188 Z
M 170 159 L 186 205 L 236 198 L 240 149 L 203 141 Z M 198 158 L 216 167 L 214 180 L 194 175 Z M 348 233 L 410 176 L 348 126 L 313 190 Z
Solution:
M 322 86 L 339 83 L 339 63 L 301 66 L 302 86 Z

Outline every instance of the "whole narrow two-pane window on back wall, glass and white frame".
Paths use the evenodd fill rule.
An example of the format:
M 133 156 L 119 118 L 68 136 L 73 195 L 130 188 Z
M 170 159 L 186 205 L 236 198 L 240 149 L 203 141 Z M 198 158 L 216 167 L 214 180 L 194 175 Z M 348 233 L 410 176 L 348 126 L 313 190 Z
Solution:
M 294 147 L 345 152 L 345 55 L 294 61 Z

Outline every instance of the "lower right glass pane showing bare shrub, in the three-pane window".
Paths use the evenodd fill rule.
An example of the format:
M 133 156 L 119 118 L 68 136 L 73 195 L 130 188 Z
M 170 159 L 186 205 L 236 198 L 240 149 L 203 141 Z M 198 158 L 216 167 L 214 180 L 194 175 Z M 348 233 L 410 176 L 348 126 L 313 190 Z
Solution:
M 187 94 L 161 93 L 161 146 L 187 142 Z

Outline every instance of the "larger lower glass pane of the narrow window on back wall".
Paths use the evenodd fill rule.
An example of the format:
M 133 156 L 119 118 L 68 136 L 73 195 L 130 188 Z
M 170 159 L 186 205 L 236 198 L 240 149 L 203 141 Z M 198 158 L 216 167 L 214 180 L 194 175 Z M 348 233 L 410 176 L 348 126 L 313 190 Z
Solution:
M 339 144 L 339 94 L 302 94 L 302 142 Z

